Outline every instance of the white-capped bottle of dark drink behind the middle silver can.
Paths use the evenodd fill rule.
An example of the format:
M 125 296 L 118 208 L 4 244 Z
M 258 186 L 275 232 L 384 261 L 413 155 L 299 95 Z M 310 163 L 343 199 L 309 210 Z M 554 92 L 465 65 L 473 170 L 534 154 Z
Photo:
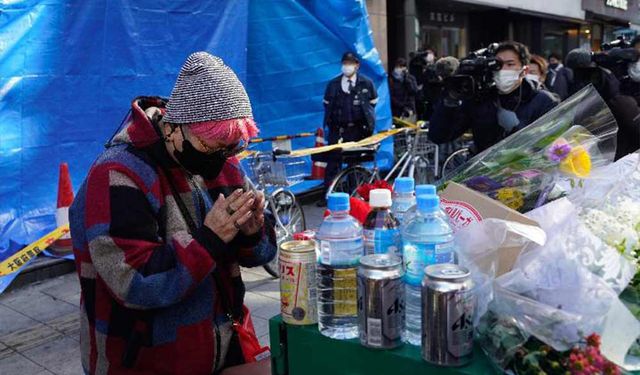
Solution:
M 400 223 L 391 213 L 391 191 L 371 190 L 369 206 L 372 210 L 364 223 L 364 253 L 402 257 Z

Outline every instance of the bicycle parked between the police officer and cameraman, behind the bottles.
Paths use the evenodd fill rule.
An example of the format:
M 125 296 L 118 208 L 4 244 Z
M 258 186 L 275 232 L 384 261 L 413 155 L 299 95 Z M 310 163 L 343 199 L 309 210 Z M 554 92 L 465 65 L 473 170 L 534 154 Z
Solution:
M 398 121 L 398 125 L 406 122 Z M 392 177 L 413 177 L 418 184 L 433 182 L 439 176 L 438 145 L 428 140 L 426 124 L 420 127 L 403 127 L 402 131 L 394 137 L 394 146 L 398 151 L 397 161 L 391 170 L 384 176 L 388 181 Z M 341 151 L 342 161 L 347 168 L 338 173 L 333 179 L 327 194 L 335 192 L 347 193 L 351 196 L 357 194 L 358 186 L 364 183 L 372 183 L 380 179 L 380 171 L 377 166 L 369 170 L 361 163 L 374 161 L 375 154 L 380 147 L 379 143 L 372 146 L 345 149 Z

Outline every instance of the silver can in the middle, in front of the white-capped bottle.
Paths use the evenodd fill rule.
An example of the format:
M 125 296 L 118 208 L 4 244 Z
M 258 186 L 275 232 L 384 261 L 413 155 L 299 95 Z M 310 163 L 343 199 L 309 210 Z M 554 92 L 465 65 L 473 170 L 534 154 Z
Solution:
M 358 332 L 368 348 L 402 345 L 404 332 L 404 269 L 393 254 L 371 254 L 358 266 Z

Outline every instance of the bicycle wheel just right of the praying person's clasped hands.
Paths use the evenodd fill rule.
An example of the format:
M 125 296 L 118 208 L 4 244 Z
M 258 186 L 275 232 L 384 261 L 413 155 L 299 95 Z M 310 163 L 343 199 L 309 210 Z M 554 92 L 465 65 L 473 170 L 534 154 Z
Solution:
M 304 211 L 300 202 L 296 200 L 296 196 L 289 190 L 276 191 L 273 194 L 274 207 L 273 214 L 278 215 L 283 227 L 276 224 L 276 238 L 278 240 L 278 252 L 276 256 L 267 264 L 264 270 L 273 277 L 279 277 L 278 273 L 278 253 L 280 252 L 280 244 L 284 241 L 292 239 L 292 235 L 307 229 L 307 222 L 304 218 Z

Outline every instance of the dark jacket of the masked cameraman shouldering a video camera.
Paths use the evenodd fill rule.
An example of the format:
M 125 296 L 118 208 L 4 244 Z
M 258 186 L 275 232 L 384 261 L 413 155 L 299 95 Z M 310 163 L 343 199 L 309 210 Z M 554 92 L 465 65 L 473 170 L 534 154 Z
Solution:
M 520 120 L 514 132 L 531 124 L 558 104 L 558 100 L 550 92 L 535 89 L 533 83 L 526 79 L 519 89 L 508 95 L 498 95 L 494 91 L 485 98 L 463 101 L 457 107 L 447 106 L 441 100 L 431 117 L 429 138 L 435 143 L 446 143 L 471 129 L 474 151 L 480 152 L 493 146 L 509 135 L 498 125 L 498 97 L 502 108 L 515 111 Z

